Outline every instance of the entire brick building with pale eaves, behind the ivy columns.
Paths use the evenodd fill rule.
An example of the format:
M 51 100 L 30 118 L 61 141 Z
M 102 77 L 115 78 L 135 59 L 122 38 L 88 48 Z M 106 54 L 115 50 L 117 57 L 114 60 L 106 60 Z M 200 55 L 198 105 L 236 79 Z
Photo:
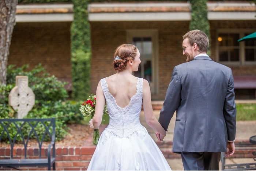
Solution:
M 256 42 L 237 40 L 256 31 L 255 4 L 207 3 L 211 58 L 233 70 L 236 98 L 256 97 Z M 18 5 L 8 64 L 42 63 L 50 74 L 70 82 L 71 4 Z M 141 54 L 135 75 L 150 82 L 152 99 L 163 100 L 174 66 L 185 62 L 182 35 L 189 30 L 188 3 L 91 3 L 91 93 L 114 74 L 114 50 L 133 43 Z

